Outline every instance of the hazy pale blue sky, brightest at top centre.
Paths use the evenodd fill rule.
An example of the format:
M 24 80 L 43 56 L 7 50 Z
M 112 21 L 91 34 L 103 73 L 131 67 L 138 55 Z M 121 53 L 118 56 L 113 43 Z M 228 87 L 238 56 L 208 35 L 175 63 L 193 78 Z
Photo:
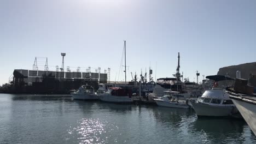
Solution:
M 52 70 L 61 67 L 61 52 L 65 71 L 110 67 L 110 79 L 118 80 L 123 40 L 129 79 L 150 64 L 154 78 L 155 67 L 156 78 L 171 77 L 178 52 L 190 81 L 196 70 L 202 80 L 256 59 L 254 0 L 2 0 L 0 18 L 0 84 L 14 69 L 32 69 L 35 57 L 48 57 Z

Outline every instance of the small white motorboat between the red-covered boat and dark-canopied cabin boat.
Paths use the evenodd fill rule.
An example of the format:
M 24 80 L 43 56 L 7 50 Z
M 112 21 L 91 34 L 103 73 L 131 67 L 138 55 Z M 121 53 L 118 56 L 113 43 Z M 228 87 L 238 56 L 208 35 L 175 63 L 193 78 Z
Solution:
M 190 107 L 188 105 L 188 100 L 185 100 L 184 96 L 179 95 L 179 92 L 175 92 L 175 91 L 165 91 L 164 96 L 154 100 L 156 104 L 159 106 L 182 108 L 182 109 L 188 109 Z

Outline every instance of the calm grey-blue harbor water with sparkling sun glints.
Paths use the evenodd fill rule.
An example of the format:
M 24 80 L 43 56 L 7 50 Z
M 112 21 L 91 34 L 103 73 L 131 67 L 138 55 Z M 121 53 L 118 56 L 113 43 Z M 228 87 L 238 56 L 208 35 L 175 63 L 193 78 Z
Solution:
M 245 121 L 193 110 L 0 94 L 0 143 L 256 143 Z

